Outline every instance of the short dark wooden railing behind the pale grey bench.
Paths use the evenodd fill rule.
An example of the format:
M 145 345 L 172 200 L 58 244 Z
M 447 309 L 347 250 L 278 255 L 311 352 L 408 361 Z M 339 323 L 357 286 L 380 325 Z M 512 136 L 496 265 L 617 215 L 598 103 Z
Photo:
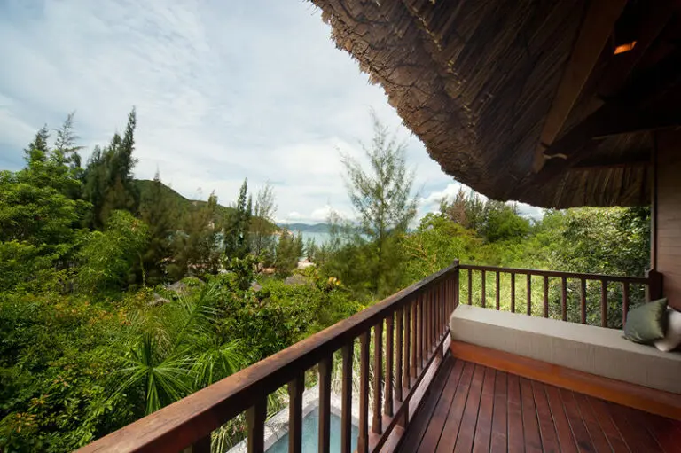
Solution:
M 501 277 L 505 274 L 510 276 L 510 305 L 508 309 L 513 313 L 516 312 L 516 276 L 521 277 L 520 285 L 525 285 L 524 293 L 526 300 L 523 301 L 525 305 L 525 312 L 528 315 L 537 315 L 536 309 L 533 309 L 532 299 L 532 277 L 541 277 L 543 293 L 541 297 L 541 315 L 544 317 L 549 317 L 549 288 L 553 283 L 559 283 L 560 285 L 560 319 L 563 321 L 568 321 L 568 283 L 572 282 L 573 285 L 578 282 L 579 291 L 579 322 L 582 324 L 587 324 L 587 308 L 589 305 L 587 297 L 587 284 L 588 282 L 596 282 L 599 285 L 599 324 L 602 327 L 612 327 L 608 325 L 608 285 L 621 285 L 622 293 L 622 325 L 626 323 L 627 313 L 630 309 L 630 286 L 631 285 L 641 285 L 645 288 L 646 300 L 657 299 L 661 297 L 661 275 L 655 271 L 646 272 L 646 277 L 621 277 L 621 276 L 610 276 L 610 275 L 600 275 L 600 274 L 584 274 L 578 272 L 560 272 L 554 270 L 536 270 L 536 269 L 511 269 L 511 268 L 496 268 L 491 266 L 474 266 L 469 264 L 461 264 L 459 266 L 460 270 L 466 271 L 466 280 L 464 281 L 463 287 L 459 288 L 459 291 L 464 294 L 466 298 L 466 303 L 481 305 L 481 307 L 487 307 L 487 295 L 489 293 L 489 286 L 487 283 L 488 275 L 494 277 L 494 290 L 493 294 L 495 297 L 494 308 L 501 308 L 501 297 L 500 297 L 500 281 Z M 474 272 L 480 275 L 480 278 L 476 278 L 476 283 L 479 286 L 476 288 L 473 284 Z M 463 278 L 463 277 L 462 277 Z M 479 294 L 479 298 L 474 301 L 474 293 Z M 536 305 L 535 305 L 536 308 Z M 619 307 L 618 307 L 619 309 Z M 618 325 L 619 327 L 620 325 Z

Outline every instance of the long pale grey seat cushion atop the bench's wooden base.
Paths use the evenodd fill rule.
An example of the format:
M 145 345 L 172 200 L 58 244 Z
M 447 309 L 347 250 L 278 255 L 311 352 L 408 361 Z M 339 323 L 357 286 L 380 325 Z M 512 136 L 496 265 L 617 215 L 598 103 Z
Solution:
M 681 394 L 681 354 L 626 340 L 622 331 L 459 305 L 451 339 Z

